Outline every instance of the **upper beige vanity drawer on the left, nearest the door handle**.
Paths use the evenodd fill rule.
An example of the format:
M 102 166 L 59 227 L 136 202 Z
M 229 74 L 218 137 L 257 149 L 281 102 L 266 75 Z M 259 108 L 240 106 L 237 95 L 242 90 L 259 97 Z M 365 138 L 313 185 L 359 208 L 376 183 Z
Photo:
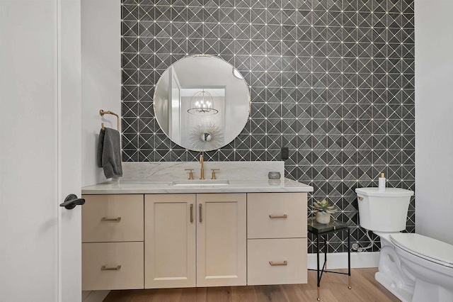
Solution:
M 84 195 L 82 242 L 143 241 L 143 195 Z

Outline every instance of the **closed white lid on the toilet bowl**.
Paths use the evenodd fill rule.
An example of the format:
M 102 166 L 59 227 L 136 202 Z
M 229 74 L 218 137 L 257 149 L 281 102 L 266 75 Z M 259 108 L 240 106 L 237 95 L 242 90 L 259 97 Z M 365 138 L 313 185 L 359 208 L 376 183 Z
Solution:
M 406 252 L 449 267 L 453 266 L 453 245 L 420 234 L 395 233 L 391 242 Z

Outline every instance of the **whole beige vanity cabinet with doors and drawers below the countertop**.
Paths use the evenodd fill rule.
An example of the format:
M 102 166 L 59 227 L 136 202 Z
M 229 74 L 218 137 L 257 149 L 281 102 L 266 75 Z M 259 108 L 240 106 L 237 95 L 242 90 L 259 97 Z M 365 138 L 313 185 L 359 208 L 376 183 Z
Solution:
M 84 291 L 306 283 L 306 193 L 83 197 Z

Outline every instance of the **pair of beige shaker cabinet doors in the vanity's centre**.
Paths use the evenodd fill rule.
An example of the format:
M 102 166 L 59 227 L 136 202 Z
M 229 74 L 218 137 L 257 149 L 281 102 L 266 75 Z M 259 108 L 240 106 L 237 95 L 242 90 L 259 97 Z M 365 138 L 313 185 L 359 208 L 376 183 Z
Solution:
M 246 285 L 246 194 L 145 195 L 144 217 L 145 288 Z

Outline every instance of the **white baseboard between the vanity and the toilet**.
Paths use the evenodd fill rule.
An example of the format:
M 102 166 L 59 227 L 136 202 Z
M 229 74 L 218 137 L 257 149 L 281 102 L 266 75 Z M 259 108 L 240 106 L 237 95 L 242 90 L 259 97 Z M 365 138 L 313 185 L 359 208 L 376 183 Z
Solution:
M 319 254 L 319 265 L 324 262 L 324 254 Z M 351 253 L 351 268 L 362 269 L 365 267 L 378 267 L 379 252 L 352 252 Z M 327 254 L 328 269 L 347 269 L 348 268 L 348 253 L 336 252 Z M 308 268 L 316 269 L 316 254 L 308 255 Z

